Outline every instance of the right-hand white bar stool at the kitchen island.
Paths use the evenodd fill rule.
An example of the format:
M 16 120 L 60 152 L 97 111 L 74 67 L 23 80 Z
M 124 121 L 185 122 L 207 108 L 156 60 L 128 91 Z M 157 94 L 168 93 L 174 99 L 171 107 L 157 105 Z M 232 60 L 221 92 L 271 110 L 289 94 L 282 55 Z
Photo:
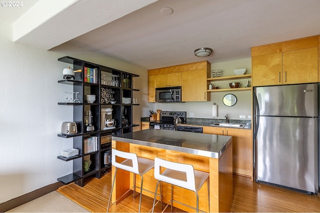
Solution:
M 160 167 L 165 168 L 164 172 L 160 173 Z M 194 170 L 192 165 L 173 163 L 160 158 L 154 158 L 154 178 L 158 180 L 158 182 L 156 183 L 155 192 L 157 192 L 158 184 L 160 182 L 171 184 L 171 200 L 166 205 L 164 210 L 171 203 L 171 212 L 172 212 L 172 204 L 174 201 L 173 200 L 173 185 L 174 185 L 187 190 L 191 190 L 195 193 L 196 208 L 190 207 L 186 204 L 182 204 L 178 201 L 174 201 L 174 202 L 184 205 L 186 207 L 189 207 L 193 210 L 196 210 L 197 213 L 199 212 L 199 197 L 197 192 L 201 189 L 205 180 L 207 180 L 208 204 L 209 204 L 209 212 L 210 212 L 209 174 L 208 173 Z M 162 196 L 162 194 L 160 195 Z M 154 196 L 154 200 L 153 200 L 152 213 L 155 206 L 154 205 L 155 199 L 156 199 L 156 196 Z M 164 212 L 164 210 L 162 211 L 162 213 Z

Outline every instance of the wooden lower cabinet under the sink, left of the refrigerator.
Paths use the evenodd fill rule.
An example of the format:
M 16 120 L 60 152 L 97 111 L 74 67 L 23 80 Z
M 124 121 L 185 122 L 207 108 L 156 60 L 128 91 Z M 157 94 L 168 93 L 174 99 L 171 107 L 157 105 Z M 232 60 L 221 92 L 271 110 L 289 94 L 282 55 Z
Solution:
M 250 129 L 203 126 L 203 133 L 232 136 L 233 173 L 252 178 L 253 143 Z

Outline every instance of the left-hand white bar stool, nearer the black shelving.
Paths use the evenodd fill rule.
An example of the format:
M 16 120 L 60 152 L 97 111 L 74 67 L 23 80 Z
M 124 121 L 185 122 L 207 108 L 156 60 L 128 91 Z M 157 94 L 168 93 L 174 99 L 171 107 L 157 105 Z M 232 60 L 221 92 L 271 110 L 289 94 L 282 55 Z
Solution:
M 137 157 L 136 154 L 134 154 L 134 153 L 122 152 L 122 151 L 119 151 L 119 150 L 116 150 L 116 149 L 112 149 L 112 155 L 111 156 L 112 156 L 112 158 L 111 158 L 112 159 L 111 160 L 112 166 L 115 167 L 115 171 L 114 171 L 114 177 L 113 177 L 112 186 L 111 186 L 110 198 L 109 198 L 109 202 L 108 202 L 108 206 L 107 206 L 106 212 L 109 211 L 109 204 L 110 204 L 110 200 L 111 200 L 111 196 L 112 196 L 112 190 L 113 190 L 113 186 L 114 186 L 115 175 L 116 175 L 117 169 L 122 169 L 122 170 L 131 172 L 131 173 L 134 174 L 134 176 L 133 176 L 133 187 L 131 189 L 133 189 L 133 198 L 135 197 L 135 188 L 139 188 L 140 189 L 139 211 L 138 211 L 138 212 L 140 212 L 141 196 L 142 196 L 142 184 L 143 184 L 143 176 L 142 175 L 145 174 L 146 172 L 148 172 L 150 169 L 152 169 L 154 167 L 154 161 L 150 160 L 150 159 L 146 159 L 146 158 Z M 121 163 L 117 163 L 115 161 L 115 156 L 118 156 L 120 158 L 124 158 L 125 160 L 122 161 Z M 141 176 L 141 186 L 140 187 L 136 187 L 135 186 L 135 175 L 136 174 Z M 124 193 L 115 202 L 117 202 L 119 199 L 121 199 L 131 189 L 129 189 L 126 193 Z M 152 193 L 156 197 L 156 193 L 150 192 L 148 190 L 144 190 L 144 191 Z M 111 206 L 114 203 L 112 203 Z M 161 208 L 162 208 L 162 202 L 161 202 Z

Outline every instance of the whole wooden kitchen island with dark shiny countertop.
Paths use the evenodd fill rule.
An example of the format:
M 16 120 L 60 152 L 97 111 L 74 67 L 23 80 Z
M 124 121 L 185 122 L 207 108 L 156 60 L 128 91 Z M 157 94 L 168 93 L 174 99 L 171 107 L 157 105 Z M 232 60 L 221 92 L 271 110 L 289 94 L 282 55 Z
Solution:
M 139 157 L 155 157 L 193 166 L 195 170 L 209 173 L 210 212 L 230 212 L 232 205 L 232 137 L 170 130 L 146 129 L 112 136 L 112 148 L 135 153 Z M 112 177 L 114 168 L 112 167 Z M 140 183 L 136 177 L 137 186 Z M 112 202 L 132 187 L 133 176 L 128 172 L 117 172 L 112 193 Z M 143 188 L 154 192 L 156 180 L 153 169 L 143 176 Z M 206 184 L 198 192 L 199 209 L 208 212 Z M 153 195 L 143 192 L 153 198 Z M 163 202 L 170 200 L 170 185 L 162 184 Z M 195 194 L 174 187 L 173 199 L 195 207 Z M 120 201 L 118 201 L 120 202 Z M 143 203 L 143 200 L 142 200 Z M 186 212 L 194 210 L 173 203 Z

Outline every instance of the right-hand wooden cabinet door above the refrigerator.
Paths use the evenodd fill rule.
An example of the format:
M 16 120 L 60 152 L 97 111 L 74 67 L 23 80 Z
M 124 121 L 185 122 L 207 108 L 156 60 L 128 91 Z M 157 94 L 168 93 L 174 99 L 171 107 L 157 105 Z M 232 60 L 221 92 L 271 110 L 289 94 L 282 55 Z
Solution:
M 282 84 L 318 82 L 318 48 L 282 53 Z

